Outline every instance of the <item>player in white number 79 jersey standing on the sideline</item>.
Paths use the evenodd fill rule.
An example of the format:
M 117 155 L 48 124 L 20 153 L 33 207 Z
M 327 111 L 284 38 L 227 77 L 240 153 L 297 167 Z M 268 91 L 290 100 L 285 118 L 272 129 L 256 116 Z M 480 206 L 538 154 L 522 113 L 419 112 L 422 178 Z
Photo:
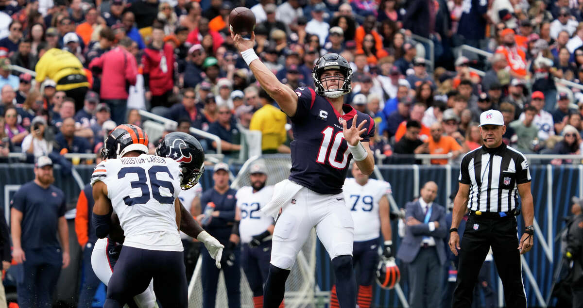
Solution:
M 352 260 L 358 287 L 357 304 L 360 308 L 371 305 L 373 295 L 374 273 L 378 263 L 379 235 L 382 233 L 384 247 L 383 257 L 392 257 L 391 220 L 389 218 L 389 200 L 391 184 L 384 180 L 369 179 L 356 164 L 352 165 L 352 176 L 346 178 L 342 191 L 346 207 L 350 209 L 354 221 L 354 245 Z M 330 307 L 339 307 L 336 298 L 336 286 L 332 287 Z

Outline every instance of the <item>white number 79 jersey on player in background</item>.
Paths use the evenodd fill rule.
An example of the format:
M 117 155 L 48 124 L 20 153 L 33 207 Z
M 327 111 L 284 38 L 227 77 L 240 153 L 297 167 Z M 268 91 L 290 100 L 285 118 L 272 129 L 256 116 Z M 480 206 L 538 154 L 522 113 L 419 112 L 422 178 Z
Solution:
M 354 178 L 347 178 L 342 190 L 354 221 L 354 242 L 378 238 L 381 232 L 378 202 L 382 196 L 391 193 L 391 184 L 384 180 L 368 179 L 361 186 Z

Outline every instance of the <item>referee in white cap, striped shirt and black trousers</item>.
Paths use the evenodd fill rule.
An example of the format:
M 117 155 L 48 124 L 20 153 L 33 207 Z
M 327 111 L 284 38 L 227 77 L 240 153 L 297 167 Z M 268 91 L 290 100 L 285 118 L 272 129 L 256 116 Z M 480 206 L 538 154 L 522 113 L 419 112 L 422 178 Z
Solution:
M 466 154 L 459 170 L 459 190 L 454 200 L 449 249 L 459 250 L 458 277 L 452 307 L 470 307 L 480 267 L 490 246 L 498 275 L 504 286 L 507 307 L 526 307 L 520 255 L 532 249 L 534 228 L 531 173 L 522 153 L 506 146 L 506 132 L 500 111 L 480 115 L 484 145 Z M 517 237 L 518 194 L 526 228 Z M 460 248 L 458 226 L 470 211 Z

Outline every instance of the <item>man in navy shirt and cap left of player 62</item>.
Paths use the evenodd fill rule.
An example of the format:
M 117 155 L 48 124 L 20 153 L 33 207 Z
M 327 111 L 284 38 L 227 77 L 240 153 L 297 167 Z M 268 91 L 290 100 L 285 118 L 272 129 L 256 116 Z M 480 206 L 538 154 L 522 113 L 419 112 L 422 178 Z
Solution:
M 217 292 L 217 282 L 219 281 L 220 270 L 224 272 L 224 281 L 227 287 L 227 297 L 229 298 L 229 307 L 241 307 L 241 284 L 240 256 L 241 248 L 237 245 L 238 236 L 231 235 L 235 221 L 235 207 L 237 199 L 235 198 L 236 190 L 229 187 L 229 165 L 219 162 L 213 169 L 213 180 L 215 186 L 206 190 L 201 196 L 202 213 L 208 213 L 206 208 L 214 204 L 210 221 L 205 221 L 205 214 L 198 215 L 196 220 L 205 228 L 210 235 L 214 236 L 221 244 L 224 245 L 223 259 L 221 268 L 216 268 L 215 260 L 208 253 L 206 248 L 201 245 L 202 256 L 202 307 L 214 308 Z M 206 225 L 205 225 L 206 222 Z

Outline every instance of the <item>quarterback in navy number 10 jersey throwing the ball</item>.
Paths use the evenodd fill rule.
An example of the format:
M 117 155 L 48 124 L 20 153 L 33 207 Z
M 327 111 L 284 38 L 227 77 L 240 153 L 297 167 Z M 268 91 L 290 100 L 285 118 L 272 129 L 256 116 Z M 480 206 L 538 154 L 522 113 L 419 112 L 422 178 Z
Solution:
M 343 104 L 343 95 L 352 90 L 350 63 L 338 54 L 326 54 L 312 70 L 315 90 L 292 90 L 255 54 L 254 33 L 250 40 L 234 33 L 231 37 L 261 87 L 291 119 L 294 133 L 289 179 L 276 184 L 272 200 L 261 208 L 266 215 L 280 213 L 273 230 L 264 307 L 279 307 L 287 276 L 312 228 L 332 260 L 340 306 L 355 307 L 354 223 L 345 206 L 342 185 L 350 160 L 363 174 L 373 172 L 368 141 L 375 129 L 370 116 Z

